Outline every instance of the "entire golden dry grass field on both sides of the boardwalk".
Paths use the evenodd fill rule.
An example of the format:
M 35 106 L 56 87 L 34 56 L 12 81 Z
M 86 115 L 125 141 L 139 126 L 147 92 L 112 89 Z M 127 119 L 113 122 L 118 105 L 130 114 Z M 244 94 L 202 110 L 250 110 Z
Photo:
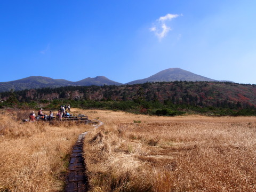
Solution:
M 0 191 L 61 191 L 71 147 L 90 130 L 90 191 L 256 191 L 256 117 L 158 117 L 76 110 L 104 123 L 21 123 L 0 109 Z

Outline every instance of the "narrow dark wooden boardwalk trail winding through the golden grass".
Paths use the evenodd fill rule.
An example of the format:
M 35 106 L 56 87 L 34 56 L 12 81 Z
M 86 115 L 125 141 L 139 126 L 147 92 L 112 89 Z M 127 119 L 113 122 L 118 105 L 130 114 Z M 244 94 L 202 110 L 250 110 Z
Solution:
M 94 119 L 95 121 L 98 121 Z M 98 129 L 103 123 L 98 121 L 99 124 L 93 125 L 94 129 Z M 84 137 L 89 131 L 79 134 L 78 139 L 73 146 L 68 166 L 68 175 L 66 179 L 66 191 L 82 192 L 88 190 L 88 179 L 85 174 L 85 163 L 83 158 L 83 144 Z

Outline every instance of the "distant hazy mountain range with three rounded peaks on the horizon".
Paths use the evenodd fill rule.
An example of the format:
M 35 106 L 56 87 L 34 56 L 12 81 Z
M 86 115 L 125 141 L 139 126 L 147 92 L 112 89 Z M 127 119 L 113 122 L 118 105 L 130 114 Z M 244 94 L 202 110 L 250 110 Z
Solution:
M 141 84 L 146 82 L 173 82 L 173 81 L 191 81 L 191 82 L 220 82 L 214 79 L 196 75 L 180 68 L 170 68 L 160 71 L 150 77 L 135 80 L 126 84 Z M 61 87 L 61 86 L 90 86 L 90 85 L 123 85 L 115 81 L 111 81 L 107 77 L 97 76 L 94 78 L 87 77 L 81 81 L 71 82 L 65 79 L 53 79 L 50 77 L 30 76 L 10 82 L 0 83 L 0 92 L 10 90 L 37 89 L 43 87 Z

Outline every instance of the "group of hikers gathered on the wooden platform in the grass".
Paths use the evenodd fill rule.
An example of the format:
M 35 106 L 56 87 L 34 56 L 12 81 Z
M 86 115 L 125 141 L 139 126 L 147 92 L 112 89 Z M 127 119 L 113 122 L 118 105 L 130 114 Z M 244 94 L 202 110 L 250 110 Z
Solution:
M 68 106 L 61 106 L 59 111 L 58 111 L 58 114 L 57 114 L 57 117 L 61 120 L 62 117 L 65 117 L 65 116 L 70 116 L 70 114 L 68 113 L 68 111 L 70 111 L 70 105 Z M 36 119 L 44 119 L 44 120 L 48 120 L 48 121 L 52 121 L 53 118 L 54 118 L 54 115 L 52 113 L 52 111 L 50 110 L 50 113 L 49 115 L 46 115 L 46 114 L 43 114 L 43 109 L 41 108 L 38 113 L 37 113 L 37 117 L 36 117 L 36 114 L 35 114 L 35 111 L 32 111 L 32 113 L 30 113 L 29 115 L 29 122 L 35 122 Z

